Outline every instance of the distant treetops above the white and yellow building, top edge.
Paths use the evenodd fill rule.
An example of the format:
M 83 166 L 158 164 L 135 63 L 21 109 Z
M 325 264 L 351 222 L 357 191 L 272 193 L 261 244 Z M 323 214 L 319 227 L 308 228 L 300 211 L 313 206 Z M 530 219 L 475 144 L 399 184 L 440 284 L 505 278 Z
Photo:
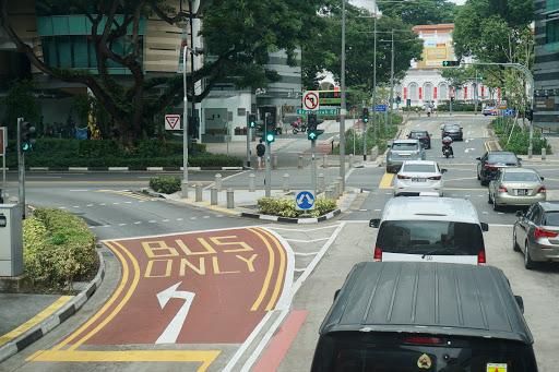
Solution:
M 378 7 L 383 15 L 400 16 L 409 25 L 425 25 L 437 23 L 453 23 L 456 7 L 447 0 L 416 0 L 413 3 L 406 1 L 383 2 L 378 1 Z

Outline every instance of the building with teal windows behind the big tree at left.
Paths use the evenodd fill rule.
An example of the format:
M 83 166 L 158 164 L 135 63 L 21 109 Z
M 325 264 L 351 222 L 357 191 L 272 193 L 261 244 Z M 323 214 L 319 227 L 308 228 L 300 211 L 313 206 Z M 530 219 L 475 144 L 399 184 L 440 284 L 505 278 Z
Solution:
M 180 0 L 169 0 L 167 4 L 178 9 L 179 2 Z M 200 0 L 193 1 L 194 12 L 198 12 L 200 3 Z M 10 1 L 8 11 L 17 35 L 48 65 L 96 73 L 95 50 L 87 37 L 91 33 L 91 23 L 85 14 L 57 5 L 49 7 L 41 0 Z M 181 72 L 181 46 L 190 44 L 190 25 L 186 23 L 178 27 L 152 15 L 142 19 L 139 28 L 142 40 L 141 63 L 145 77 L 171 76 Z M 203 47 L 204 40 L 199 36 L 201 21 L 194 20 L 192 28 L 194 47 Z M 122 38 L 122 43 L 118 45 L 122 50 L 128 48 L 126 39 Z M 0 95 L 5 94 L 7 82 L 34 77 L 37 82 L 43 121 L 55 127 L 67 125 L 72 115 L 73 97 L 86 94 L 87 88 L 81 84 L 62 82 L 41 73 L 15 49 L 15 45 L 0 28 Z M 197 68 L 202 65 L 204 58 L 212 58 L 212 56 L 197 56 L 194 58 Z M 207 97 L 197 104 L 194 115 L 201 118 L 199 141 L 223 142 L 228 136 L 233 141 L 245 141 L 247 112 L 258 111 L 261 115 L 271 112 L 276 120 L 280 120 L 286 113 L 295 112 L 300 108 L 300 51 L 297 52 L 296 60 L 297 65 L 289 67 L 284 51 L 271 53 L 267 68 L 278 72 L 280 81 L 270 84 L 265 89 L 258 89 L 261 95 L 255 95 L 257 88 L 260 87 L 239 89 L 227 83 L 216 84 Z M 131 72 L 117 63 L 110 63 L 108 70 L 120 83 L 126 84 L 132 81 Z M 190 58 L 187 59 L 187 71 L 189 70 L 191 70 Z M 197 94 L 201 93 L 203 83 L 197 84 Z M 182 95 L 182 92 L 178 94 Z M 181 105 L 175 108 L 176 113 L 182 113 Z M 191 115 L 190 107 L 188 110 Z M 0 108 L 0 119 L 2 116 Z M 72 118 L 78 127 L 85 127 L 86 120 L 86 118 L 76 118 L 75 115 Z M 162 121 L 160 124 L 163 127 L 164 122 Z

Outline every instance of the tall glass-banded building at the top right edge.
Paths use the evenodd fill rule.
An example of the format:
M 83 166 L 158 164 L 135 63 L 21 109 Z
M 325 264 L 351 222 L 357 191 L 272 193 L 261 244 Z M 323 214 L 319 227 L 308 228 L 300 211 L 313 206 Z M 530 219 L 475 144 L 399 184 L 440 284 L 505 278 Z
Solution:
M 536 0 L 534 125 L 559 130 L 559 1 Z

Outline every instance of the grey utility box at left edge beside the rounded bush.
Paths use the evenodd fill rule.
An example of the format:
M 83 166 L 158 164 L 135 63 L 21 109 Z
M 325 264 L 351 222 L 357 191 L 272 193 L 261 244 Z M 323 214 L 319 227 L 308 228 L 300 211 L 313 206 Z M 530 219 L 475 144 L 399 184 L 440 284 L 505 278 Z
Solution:
M 0 204 L 0 276 L 23 274 L 22 206 Z

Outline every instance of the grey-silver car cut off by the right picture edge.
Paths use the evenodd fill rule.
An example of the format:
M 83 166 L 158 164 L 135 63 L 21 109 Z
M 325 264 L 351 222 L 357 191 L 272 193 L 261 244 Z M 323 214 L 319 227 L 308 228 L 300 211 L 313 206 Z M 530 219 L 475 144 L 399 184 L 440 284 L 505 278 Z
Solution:
M 524 267 L 537 262 L 559 262 L 559 202 L 533 204 L 526 213 L 516 212 L 512 248 L 524 252 Z

